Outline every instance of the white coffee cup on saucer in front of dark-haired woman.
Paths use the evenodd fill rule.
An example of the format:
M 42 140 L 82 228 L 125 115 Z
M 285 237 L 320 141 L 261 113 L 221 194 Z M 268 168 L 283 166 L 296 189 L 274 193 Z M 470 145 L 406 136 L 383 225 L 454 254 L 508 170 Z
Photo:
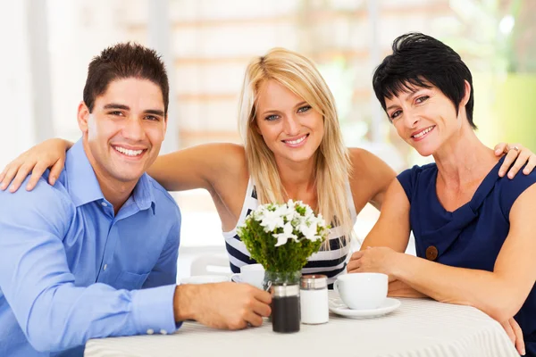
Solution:
M 376 309 L 387 298 L 389 278 L 381 273 L 341 275 L 333 284 L 343 303 L 350 309 Z

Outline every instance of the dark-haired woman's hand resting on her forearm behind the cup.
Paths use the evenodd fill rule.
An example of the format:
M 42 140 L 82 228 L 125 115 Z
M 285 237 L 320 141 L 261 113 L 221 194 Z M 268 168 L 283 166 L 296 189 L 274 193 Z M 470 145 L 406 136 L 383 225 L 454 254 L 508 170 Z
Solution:
M 397 268 L 397 255 L 385 246 L 367 247 L 363 251 L 352 254 L 348 262 L 348 273 L 374 272 L 392 275 Z

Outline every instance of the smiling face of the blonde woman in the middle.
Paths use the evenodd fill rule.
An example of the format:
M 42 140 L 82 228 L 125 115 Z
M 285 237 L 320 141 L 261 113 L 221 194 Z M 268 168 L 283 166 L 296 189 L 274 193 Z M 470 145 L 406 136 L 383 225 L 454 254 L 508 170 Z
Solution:
M 322 114 L 275 80 L 264 81 L 258 90 L 257 131 L 276 160 L 314 158 L 324 133 Z

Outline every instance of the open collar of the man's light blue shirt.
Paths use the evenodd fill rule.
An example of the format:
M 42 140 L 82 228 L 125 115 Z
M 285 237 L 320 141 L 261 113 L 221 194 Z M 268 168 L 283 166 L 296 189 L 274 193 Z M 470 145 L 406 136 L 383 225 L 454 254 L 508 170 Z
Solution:
M 86 203 L 105 200 L 101 191 L 95 171 L 89 163 L 88 156 L 84 151 L 82 139 L 72 145 L 65 159 L 65 171 L 67 173 L 67 190 L 71 195 L 72 202 L 77 206 Z M 131 197 L 138 205 L 140 211 L 152 208 L 155 214 L 154 188 L 147 173 L 144 173 L 134 187 Z

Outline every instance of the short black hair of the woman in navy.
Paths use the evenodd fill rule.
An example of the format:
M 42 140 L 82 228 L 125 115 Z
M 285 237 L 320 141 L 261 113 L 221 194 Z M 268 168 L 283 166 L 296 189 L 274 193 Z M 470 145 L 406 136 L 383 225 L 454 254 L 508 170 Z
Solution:
M 473 77 L 471 71 L 449 46 L 423 35 L 408 33 L 393 41 L 393 53 L 376 68 L 373 88 L 385 110 L 385 98 L 397 96 L 411 87 L 438 87 L 450 101 L 459 107 L 464 99 L 465 82 L 471 85 L 471 96 L 465 104 L 467 120 L 473 129 Z

